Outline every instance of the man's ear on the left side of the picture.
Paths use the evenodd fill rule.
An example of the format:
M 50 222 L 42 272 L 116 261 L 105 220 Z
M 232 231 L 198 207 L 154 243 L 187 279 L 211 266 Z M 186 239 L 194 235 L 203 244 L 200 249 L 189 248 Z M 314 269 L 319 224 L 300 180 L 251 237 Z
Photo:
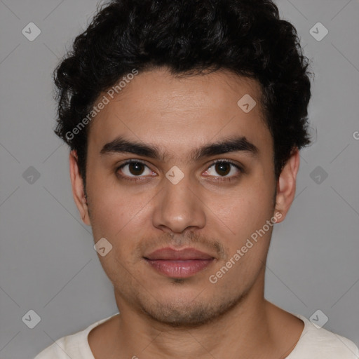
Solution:
M 90 216 L 88 215 L 87 200 L 85 197 L 85 191 L 83 189 L 83 180 L 79 174 L 79 165 L 77 163 L 77 154 L 73 150 L 69 154 L 69 165 L 70 165 L 70 177 L 72 183 L 72 196 L 76 203 L 77 209 L 80 212 L 83 223 L 90 226 Z

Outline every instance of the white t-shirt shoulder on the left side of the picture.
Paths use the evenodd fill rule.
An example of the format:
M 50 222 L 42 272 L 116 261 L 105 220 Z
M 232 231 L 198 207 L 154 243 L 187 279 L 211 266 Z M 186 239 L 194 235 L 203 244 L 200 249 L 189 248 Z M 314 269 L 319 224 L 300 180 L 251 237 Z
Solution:
M 86 327 L 86 329 L 81 330 L 81 332 L 57 339 L 57 341 L 36 355 L 34 359 L 94 359 L 88 345 L 88 334 L 90 330 L 109 318 L 111 316 L 98 320 Z

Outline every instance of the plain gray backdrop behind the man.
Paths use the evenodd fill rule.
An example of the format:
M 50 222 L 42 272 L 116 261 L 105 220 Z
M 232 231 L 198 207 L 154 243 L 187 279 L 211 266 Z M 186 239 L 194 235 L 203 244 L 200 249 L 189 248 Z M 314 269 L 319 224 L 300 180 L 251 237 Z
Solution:
M 277 4 L 313 63 L 309 114 L 318 135 L 302 151 L 289 215 L 275 226 L 265 294 L 307 318 L 320 309 L 327 330 L 359 345 L 359 1 Z M 117 312 L 90 228 L 72 199 L 68 149 L 53 134 L 50 74 L 96 5 L 0 1 L 2 359 L 33 358 L 55 339 Z M 41 29 L 34 41 L 22 34 L 29 22 Z M 322 41 L 309 33 L 317 22 L 329 30 Z M 23 176 L 30 166 L 40 175 L 33 183 L 29 172 Z M 22 321 L 30 309 L 41 317 L 34 329 Z

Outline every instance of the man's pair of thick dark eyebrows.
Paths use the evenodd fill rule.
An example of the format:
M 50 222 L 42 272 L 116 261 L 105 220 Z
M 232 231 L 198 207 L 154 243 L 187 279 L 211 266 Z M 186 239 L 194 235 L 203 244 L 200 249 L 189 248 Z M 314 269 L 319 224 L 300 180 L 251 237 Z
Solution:
M 252 156 L 257 156 L 259 149 L 244 136 L 227 137 L 218 142 L 205 144 L 194 149 L 189 155 L 189 159 L 190 161 L 196 162 L 204 157 L 238 151 L 244 151 Z M 151 144 L 129 141 L 121 136 L 116 137 L 115 140 L 105 144 L 100 151 L 101 155 L 119 153 L 137 154 L 138 156 L 154 158 L 159 161 L 166 161 L 166 159 L 169 158 L 167 153 L 159 151 L 157 147 L 154 147 Z

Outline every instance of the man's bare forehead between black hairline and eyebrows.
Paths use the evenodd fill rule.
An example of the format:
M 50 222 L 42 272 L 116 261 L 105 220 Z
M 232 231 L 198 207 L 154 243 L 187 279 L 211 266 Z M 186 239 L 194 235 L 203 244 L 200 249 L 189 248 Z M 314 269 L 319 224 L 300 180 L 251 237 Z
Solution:
M 102 93 L 99 98 L 107 93 Z M 257 147 L 271 147 L 271 135 L 260 107 L 257 81 L 230 72 L 177 78 L 165 69 L 144 72 L 126 84 L 95 116 L 88 147 L 100 151 L 126 137 L 151 143 L 176 157 L 189 147 L 233 135 L 246 137 Z M 244 99 L 239 102 L 238 101 Z M 243 102 L 254 100 L 249 111 Z M 244 103 L 245 104 L 245 103 Z

